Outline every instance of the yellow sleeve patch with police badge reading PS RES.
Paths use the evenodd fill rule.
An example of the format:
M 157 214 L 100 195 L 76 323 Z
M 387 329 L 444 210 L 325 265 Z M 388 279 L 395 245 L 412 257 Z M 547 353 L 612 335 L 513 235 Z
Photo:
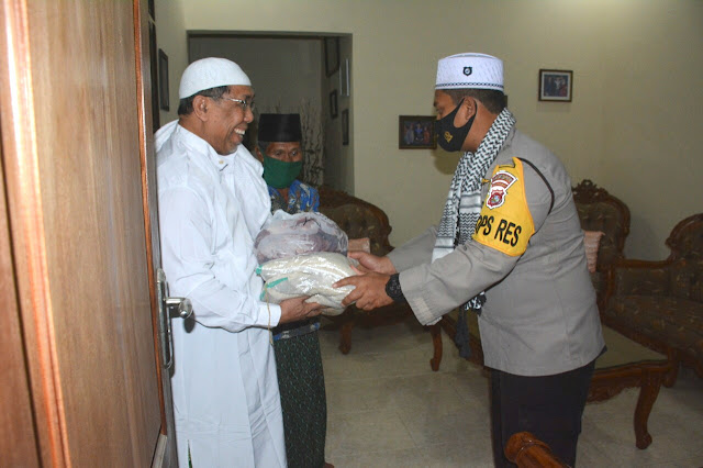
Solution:
M 494 169 L 481 215 L 476 223 L 473 241 L 510 256 L 520 256 L 535 233 L 527 207 L 523 165 L 513 158 L 513 166 Z

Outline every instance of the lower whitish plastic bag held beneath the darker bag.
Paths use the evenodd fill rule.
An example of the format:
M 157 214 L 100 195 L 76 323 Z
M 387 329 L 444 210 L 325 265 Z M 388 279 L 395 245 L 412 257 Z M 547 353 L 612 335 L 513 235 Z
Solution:
M 324 315 L 339 315 L 344 311 L 342 300 L 354 290 L 353 286 L 333 288 L 342 278 L 356 275 L 349 265 L 358 265 L 353 258 L 330 252 L 279 258 L 256 269 L 266 285 L 259 300 L 278 304 L 290 298 L 310 296 L 305 302 L 326 305 Z

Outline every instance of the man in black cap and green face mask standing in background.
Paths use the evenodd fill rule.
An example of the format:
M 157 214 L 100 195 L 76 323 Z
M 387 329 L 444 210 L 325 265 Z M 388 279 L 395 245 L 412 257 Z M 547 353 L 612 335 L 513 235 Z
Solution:
M 264 165 L 271 212 L 294 214 L 320 208 L 317 190 L 298 180 L 303 165 L 301 140 L 300 114 L 259 115 L 256 156 Z M 327 400 L 319 328 L 317 317 L 274 328 L 289 467 L 332 467 L 325 464 Z

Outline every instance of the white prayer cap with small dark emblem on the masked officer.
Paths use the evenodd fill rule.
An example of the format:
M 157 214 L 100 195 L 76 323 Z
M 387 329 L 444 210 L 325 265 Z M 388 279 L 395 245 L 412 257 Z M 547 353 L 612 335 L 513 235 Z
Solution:
M 494 89 L 503 91 L 503 60 L 486 54 L 457 54 L 437 64 L 435 89 Z

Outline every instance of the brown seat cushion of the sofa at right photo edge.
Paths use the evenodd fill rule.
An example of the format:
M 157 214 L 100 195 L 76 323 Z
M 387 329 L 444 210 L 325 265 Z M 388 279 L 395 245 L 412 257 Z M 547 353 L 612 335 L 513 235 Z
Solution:
M 703 303 L 661 296 L 614 296 L 604 315 L 703 361 Z

